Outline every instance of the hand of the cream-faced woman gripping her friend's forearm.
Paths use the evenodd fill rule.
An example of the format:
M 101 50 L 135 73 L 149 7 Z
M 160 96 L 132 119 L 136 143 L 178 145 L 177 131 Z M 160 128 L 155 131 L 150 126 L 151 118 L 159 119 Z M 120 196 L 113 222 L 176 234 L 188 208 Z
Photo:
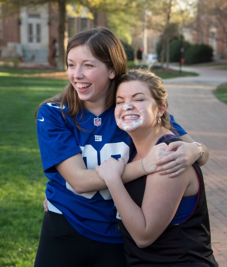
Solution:
M 106 183 L 107 180 L 115 180 L 116 178 L 121 179 L 124 171 L 124 159 L 120 157 L 115 160 L 113 157 L 109 157 L 107 161 L 104 161 L 100 166 L 96 165 L 95 170 L 99 177 Z

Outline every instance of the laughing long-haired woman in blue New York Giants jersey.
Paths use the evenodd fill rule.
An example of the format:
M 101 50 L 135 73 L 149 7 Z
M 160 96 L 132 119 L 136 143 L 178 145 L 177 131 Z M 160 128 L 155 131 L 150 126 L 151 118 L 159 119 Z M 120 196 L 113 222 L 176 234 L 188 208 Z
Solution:
M 95 165 L 109 157 L 130 156 L 131 139 L 114 118 L 116 81 L 127 70 L 125 52 L 110 30 L 97 27 L 71 38 L 66 62 L 70 83 L 62 94 L 41 103 L 37 113 L 41 158 L 49 179 L 44 206 L 49 212 L 35 267 L 125 266 L 113 199 L 95 171 Z M 193 141 L 171 121 L 184 141 Z M 153 173 L 167 163 L 158 171 L 174 177 L 198 160 L 202 150 L 204 146 L 181 141 L 169 147 L 160 144 L 143 158 L 143 167 Z M 205 164 L 207 158 L 205 152 L 199 162 Z M 135 161 L 126 164 L 121 178 L 127 183 L 142 174 L 140 161 Z

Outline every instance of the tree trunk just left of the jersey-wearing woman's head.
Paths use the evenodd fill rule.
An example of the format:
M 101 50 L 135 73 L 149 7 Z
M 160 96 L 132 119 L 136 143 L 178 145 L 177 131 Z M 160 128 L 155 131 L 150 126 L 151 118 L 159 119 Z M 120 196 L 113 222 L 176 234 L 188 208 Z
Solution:
M 64 48 L 64 39 L 65 39 L 65 24 L 66 24 L 66 0 L 58 0 L 58 10 L 59 10 L 59 61 L 58 61 L 58 70 L 65 71 L 65 48 Z

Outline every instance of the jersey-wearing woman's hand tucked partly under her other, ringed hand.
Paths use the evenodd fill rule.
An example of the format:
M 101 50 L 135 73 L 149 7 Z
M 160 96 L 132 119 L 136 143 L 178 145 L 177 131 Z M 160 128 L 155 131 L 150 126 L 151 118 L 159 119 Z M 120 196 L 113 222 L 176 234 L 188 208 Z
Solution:
M 165 143 L 155 145 L 147 154 L 147 156 L 143 158 L 143 168 L 146 173 L 156 173 L 157 164 L 155 163 L 160 159 L 174 153 L 174 151 L 166 151 L 166 148 L 168 148 L 168 146 Z M 162 164 L 159 165 L 161 166 Z

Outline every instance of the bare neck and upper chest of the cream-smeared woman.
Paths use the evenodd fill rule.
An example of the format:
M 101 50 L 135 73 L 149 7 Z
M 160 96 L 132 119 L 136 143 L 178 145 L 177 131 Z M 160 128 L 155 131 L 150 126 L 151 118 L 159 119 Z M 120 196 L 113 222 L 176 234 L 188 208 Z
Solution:
M 128 132 L 128 134 L 133 139 L 133 143 L 137 150 L 137 157 L 140 159 L 146 157 L 160 137 L 165 134 L 173 133 L 163 126 L 156 126 L 152 129 L 150 127 L 143 130 L 138 128 L 133 132 Z

